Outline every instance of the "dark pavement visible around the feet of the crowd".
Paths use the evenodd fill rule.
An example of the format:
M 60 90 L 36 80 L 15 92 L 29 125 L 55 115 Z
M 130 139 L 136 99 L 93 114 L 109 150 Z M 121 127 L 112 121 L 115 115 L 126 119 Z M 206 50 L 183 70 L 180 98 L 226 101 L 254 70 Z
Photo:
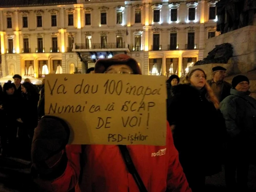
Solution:
M 0 192 L 38 192 L 30 177 L 30 162 L 18 158 L 0 158 Z M 256 192 L 256 166 L 249 171 L 250 192 Z M 224 169 L 206 177 L 206 192 L 225 192 Z

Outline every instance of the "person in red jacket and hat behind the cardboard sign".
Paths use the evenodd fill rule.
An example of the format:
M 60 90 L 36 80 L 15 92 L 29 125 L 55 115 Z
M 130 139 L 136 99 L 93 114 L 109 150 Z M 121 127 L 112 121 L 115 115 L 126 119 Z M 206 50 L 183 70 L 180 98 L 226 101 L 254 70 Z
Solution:
M 138 63 L 124 54 L 98 60 L 97 73 L 141 75 Z M 67 145 L 65 121 L 45 116 L 35 129 L 31 172 L 46 191 L 191 192 L 168 123 L 166 133 L 165 146 Z

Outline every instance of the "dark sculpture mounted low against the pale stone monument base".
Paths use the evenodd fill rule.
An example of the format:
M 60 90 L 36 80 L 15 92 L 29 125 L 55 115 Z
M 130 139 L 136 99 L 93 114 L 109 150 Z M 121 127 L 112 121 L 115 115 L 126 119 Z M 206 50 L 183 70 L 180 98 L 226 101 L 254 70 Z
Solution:
M 195 65 L 203 65 L 209 63 L 227 63 L 233 56 L 233 48 L 229 43 L 215 45 L 215 48 L 208 53 L 203 60 L 197 61 Z

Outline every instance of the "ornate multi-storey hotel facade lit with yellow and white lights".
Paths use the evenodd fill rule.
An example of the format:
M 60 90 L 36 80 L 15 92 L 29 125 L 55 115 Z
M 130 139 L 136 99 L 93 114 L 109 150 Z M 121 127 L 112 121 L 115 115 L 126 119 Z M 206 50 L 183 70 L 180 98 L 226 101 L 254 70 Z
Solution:
M 144 75 L 183 76 L 218 34 L 217 1 L 55 1 L 0 3 L 1 76 L 83 73 L 118 53 Z

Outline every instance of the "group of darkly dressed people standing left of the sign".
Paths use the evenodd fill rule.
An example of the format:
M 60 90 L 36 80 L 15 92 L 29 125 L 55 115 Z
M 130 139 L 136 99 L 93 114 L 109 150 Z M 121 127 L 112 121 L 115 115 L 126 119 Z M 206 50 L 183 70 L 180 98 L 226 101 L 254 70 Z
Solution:
M 30 160 L 34 129 L 43 113 L 44 92 L 40 95 L 39 87 L 30 79 L 21 82 L 22 77 L 16 74 L 0 89 L 0 155 Z

